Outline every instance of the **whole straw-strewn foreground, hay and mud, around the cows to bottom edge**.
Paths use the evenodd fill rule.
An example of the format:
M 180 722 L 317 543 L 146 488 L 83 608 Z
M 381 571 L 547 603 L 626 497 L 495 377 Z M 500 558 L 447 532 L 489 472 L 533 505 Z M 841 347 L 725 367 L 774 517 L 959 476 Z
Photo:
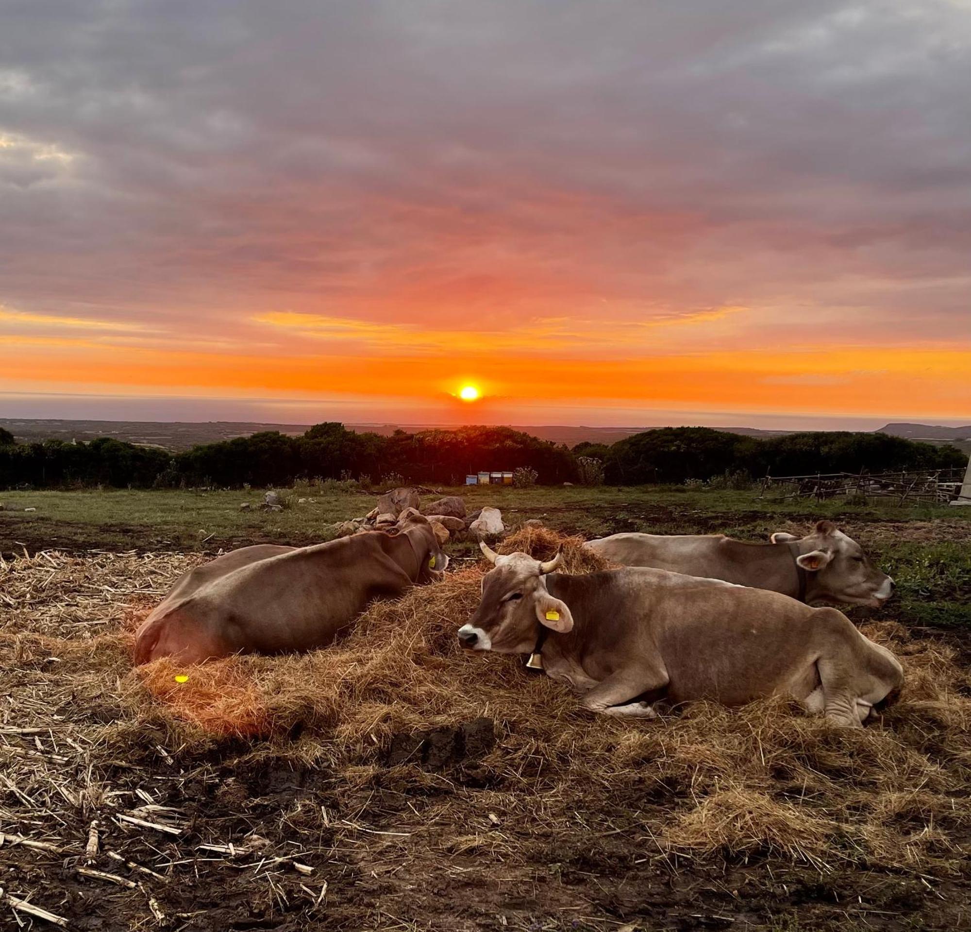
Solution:
M 548 531 L 503 549 L 561 546 L 589 568 Z M 594 718 L 515 658 L 458 651 L 479 568 L 332 649 L 132 671 L 132 630 L 197 559 L 0 567 L 0 885 L 71 928 L 966 922 L 971 699 L 938 640 L 867 628 L 908 682 L 861 732 L 785 702 Z

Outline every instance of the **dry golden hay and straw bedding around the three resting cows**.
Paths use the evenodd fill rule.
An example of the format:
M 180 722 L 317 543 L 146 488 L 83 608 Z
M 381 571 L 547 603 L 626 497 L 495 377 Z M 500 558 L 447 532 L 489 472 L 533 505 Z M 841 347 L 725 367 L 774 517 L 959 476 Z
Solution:
M 525 529 L 500 549 L 542 559 L 562 549 L 567 572 L 597 568 L 579 545 Z M 285 756 L 366 782 L 384 771 L 395 735 L 487 716 L 498 740 L 476 764 L 480 788 L 455 789 L 458 798 L 479 793 L 480 814 L 500 794 L 537 830 L 577 831 L 577 800 L 596 798 L 617 831 L 635 833 L 654 857 L 771 854 L 822 872 L 954 876 L 971 854 L 968 677 L 949 649 L 892 621 L 865 630 L 902 659 L 907 687 L 865 730 L 834 728 L 784 701 L 697 704 L 662 721 L 589 716 L 522 658 L 458 648 L 485 562 L 372 606 L 331 649 L 132 670 L 138 621 L 196 560 L 41 553 L 0 568 L 0 762 L 12 768 L 0 784 L 33 785 L 36 799 L 28 772 L 47 768 L 49 805 L 66 793 L 94 812 L 104 799 L 91 761 L 201 753 L 227 740 L 250 764 Z M 58 760 L 80 753 L 90 785 L 69 788 Z M 400 770 L 417 782 L 442 779 L 415 764 Z M 474 832 L 448 842 L 452 851 L 483 844 Z

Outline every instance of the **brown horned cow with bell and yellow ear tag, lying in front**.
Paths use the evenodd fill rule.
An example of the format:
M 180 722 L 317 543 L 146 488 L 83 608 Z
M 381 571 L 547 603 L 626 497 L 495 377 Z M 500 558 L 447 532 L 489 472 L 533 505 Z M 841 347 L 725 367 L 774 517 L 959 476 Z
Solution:
M 895 695 L 903 672 L 836 609 L 666 570 L 626 567 L 566 576 L 558 557 L 499 556 L 458 630 L 463 647 L 540 654 L 591 712 L 653 717 L 651 703 L 712 699 L 729 706 L 782 694 L 859 727 Z

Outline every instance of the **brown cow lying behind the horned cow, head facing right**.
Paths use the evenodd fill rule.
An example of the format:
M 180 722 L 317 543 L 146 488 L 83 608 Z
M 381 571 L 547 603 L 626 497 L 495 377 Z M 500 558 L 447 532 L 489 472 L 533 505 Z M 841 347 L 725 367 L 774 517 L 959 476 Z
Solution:
M 893 593 L 893 580 L 832 521 L 820 521 L 802 538 L 773 534 L 771 544 L 747 544 L 723 534 L 614 534 L 586 547 L 621 566 L 752 585 L 811 604 L 879 608 Z

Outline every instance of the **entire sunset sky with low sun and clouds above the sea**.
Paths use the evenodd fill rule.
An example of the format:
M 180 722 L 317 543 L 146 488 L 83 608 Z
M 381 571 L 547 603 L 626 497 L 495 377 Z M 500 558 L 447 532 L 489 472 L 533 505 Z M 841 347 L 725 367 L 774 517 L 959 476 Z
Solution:
M 284 7 L 8 17 L 7 416 L 971 421 L 971 8 Z

